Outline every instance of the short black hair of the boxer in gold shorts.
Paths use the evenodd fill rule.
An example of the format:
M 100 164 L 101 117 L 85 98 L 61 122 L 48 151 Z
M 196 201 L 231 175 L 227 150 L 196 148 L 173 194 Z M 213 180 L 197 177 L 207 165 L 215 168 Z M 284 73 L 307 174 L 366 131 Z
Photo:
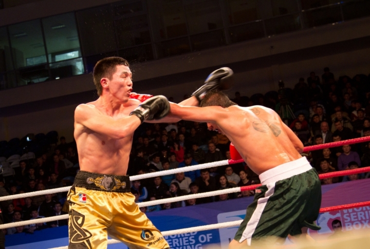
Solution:
M 93 80 L 98 91 L 98 95 L 101 95 L 103 92 L 100 80 L 104 77 L 111 80 L 112 75 L 116 72 L 116 66 L 118 65 L 130 66 L 125 59 L 120 57 L 107 57 L 97 62 L 93 71 Z

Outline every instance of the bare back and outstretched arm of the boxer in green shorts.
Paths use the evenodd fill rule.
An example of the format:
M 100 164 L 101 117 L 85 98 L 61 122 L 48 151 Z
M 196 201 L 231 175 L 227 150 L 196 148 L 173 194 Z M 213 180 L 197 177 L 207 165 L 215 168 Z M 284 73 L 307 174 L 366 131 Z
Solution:
M 263 106 L 222 108 L 171 106 L 184 120 L 207 122 L 209 129 L 224 133 L 248 166 L 258 175 L 302 156 L 303 144 L 279 115 Z

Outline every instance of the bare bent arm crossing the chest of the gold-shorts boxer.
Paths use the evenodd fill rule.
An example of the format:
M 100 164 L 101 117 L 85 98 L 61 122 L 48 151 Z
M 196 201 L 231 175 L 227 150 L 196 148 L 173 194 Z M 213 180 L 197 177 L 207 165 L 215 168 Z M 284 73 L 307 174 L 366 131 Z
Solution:
M 75 110 L 75 123 L 113 139 L 122 139 L 134 133 L 141 124 L 136 116 L 113 119 L 105 116 L 93 105 L 82 104 Z

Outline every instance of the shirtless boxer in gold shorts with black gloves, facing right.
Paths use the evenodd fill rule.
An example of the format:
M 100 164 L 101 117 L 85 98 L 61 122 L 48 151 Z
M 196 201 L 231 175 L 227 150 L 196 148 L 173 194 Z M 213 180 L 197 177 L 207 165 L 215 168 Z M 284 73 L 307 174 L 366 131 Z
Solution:
M 67 196 L 69 248 L 106 248 L 107 235 L 131 249 L 169 248 L 135 204 L 126 171 L 135 129 L 143 121 L 164 117 L 170 104 L 163 96 L 133 96 L 128 66 L 118 57 L 99 61 L 93 78 L 100 97 L 75 110 L 74 136 L 81 170 Z M 180 104 L 198 105 L 202 95 L 219 88 L 230 75 L 227 68 L 216 70 L 192 98 Z M 160 122 L 178 120 L 164 118 Z

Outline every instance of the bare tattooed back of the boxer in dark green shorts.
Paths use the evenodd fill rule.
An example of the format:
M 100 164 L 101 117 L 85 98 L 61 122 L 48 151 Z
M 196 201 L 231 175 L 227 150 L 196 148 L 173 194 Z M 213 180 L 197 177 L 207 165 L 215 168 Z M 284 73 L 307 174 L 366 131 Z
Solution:
M 273 110 L 263 106 L 228 110 L 230 118 L 217 123 L 255 173 L 302 157 L 291 141 L 296 137 Z

